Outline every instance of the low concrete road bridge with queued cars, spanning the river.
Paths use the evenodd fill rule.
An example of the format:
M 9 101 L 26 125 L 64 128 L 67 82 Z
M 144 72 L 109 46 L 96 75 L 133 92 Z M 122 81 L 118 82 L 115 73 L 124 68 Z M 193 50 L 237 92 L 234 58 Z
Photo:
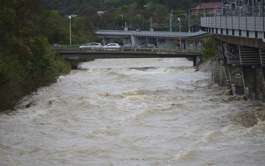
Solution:
M 80 45 L 62 45 L 56 49 L 61 59 L 107 59 L 107 58 L 193 58 L 193 67 L 201 60 L 201 50 L 187 50 L 183 52 L 179 47 L 154 48 L 151 50 L 134 49 L 122 50 L 122 48 L 79 48 Z

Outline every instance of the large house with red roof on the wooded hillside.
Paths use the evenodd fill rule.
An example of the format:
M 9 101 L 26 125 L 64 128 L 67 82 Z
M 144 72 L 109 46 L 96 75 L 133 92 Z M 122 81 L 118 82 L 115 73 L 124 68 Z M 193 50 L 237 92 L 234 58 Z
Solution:
M 201 3 L 198 6 L 194 7 L 192 9 L 193 13 L 196 12 L 200 12 L 203 11 L 203 9 L 205 10 L 205 12 L 214 12 L 214 9 L 216 11 L 216 9 L 220 11 L 222 11 L 222 2 L 209 2 L 209 3 Z

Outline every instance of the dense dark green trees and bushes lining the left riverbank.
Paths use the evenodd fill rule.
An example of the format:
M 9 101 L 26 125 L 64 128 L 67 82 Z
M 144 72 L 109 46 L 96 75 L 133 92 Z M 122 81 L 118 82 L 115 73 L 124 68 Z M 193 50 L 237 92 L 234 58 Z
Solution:
M 14 110 L 23 96 L 52 83 L 59 71 L 70 72 L 69 63 L 61 61 L 47 37 L 39 33 L 57 42 L 52 35 L 63 26 L 38 20 L 41 12 L 39 1 L 0 1 L 0 111 Z M 45 14 L 59 18 L 56 12 Z

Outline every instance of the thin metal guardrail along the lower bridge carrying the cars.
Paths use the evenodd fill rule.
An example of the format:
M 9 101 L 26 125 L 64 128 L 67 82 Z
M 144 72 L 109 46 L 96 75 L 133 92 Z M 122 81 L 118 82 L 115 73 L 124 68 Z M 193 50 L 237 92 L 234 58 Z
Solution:
M 155 46 L 150 48 L 124 48 L 122 47 L 90 47 L 90 48 L 80 48 L 82 45 L 61 45 L 60 48 L 54 48 L 54 50 L 132 50 L 132 51 L 163 51 L 163 52 L 170 52 L 176 51 L 181 52 L 183 51 L 183 47 L 171 46 L 171 47 L 158 47 Z M 188 52 L 201 52 L 201 47 L 186 47 Z

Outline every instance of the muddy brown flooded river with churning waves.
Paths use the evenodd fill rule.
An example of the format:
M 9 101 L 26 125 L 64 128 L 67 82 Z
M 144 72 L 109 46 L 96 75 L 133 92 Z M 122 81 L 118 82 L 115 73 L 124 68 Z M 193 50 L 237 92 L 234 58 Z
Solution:
M 228 96 L 192 65 L 83 63 L 0 115 L 0 165 L 265 165 L 265 104 Z

